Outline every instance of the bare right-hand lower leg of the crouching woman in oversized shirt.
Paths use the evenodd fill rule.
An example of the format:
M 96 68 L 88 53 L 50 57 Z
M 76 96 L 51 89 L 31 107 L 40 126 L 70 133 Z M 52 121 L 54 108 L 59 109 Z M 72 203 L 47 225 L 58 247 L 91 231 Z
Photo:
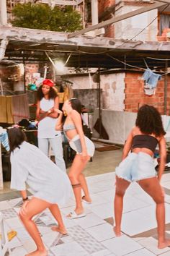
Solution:
M 54 216 L 55 220 L 58 222 L 58 226 L 53 226 L 51 229 L 57 231 L 61 234 L 67 234 L 66 228 L 63 223 L 63 218 L 61 216 L 61 211 L 57 204 L 50 205 L 50 213 Z

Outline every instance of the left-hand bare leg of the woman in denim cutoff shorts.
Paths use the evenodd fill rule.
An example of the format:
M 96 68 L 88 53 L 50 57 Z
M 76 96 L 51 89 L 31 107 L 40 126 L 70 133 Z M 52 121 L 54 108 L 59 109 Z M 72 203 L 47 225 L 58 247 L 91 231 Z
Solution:
M 125 179 L 120 179 L 116 176 L 116 192 L 115 192 L 115 231 L 116 236 L 121 235 L 121 221 L 122 221 L 122 208 L 123 208 L 123 197 L 126 189 L 129 187 L 130 182 Z

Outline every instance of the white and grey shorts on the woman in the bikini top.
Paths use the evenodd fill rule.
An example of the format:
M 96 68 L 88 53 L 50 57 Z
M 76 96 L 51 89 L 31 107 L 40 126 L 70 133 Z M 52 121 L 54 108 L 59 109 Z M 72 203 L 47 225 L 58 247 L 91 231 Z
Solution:
M 86 136 L 84 136 L 84 139 L 86 143 L 87 154 L 89 156 L 93 156 L 94 150 L 95 150 L 94 143 L 91 140 L 89 140 L 89 138 Z M 75 137 L 73 137 L 73 139 L 70 140 L 69 144 L 71 148 L 73 148 L 73 150 L 76 151 L 77 154 L 81 154 L 82 148 L 81 148 L 81 141 L 80 141 L 79 135 L 76 135 Z

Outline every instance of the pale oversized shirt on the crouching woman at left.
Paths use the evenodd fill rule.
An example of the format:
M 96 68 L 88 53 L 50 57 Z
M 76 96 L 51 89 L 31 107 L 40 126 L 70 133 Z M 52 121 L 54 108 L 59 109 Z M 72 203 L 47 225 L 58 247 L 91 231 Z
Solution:
M 25 182 L 42 200 L 63 204 L 71 195 L 71 184 L 61 171 L 42 151 L 28 142 L 22 142 L 11 153 L 11 189 L 25 190 Z

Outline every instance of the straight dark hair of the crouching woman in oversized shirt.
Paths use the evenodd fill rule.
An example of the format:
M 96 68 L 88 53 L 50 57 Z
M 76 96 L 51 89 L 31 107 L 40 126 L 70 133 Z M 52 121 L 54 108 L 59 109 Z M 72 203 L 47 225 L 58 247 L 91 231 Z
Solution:
M 9 129 L 8 137 L 10 152 L 14 151 L 15 148 L 19 148 L 19 145 L 26 140 L 26 136 L 24 135 L 22 129 L 17 127 Z

